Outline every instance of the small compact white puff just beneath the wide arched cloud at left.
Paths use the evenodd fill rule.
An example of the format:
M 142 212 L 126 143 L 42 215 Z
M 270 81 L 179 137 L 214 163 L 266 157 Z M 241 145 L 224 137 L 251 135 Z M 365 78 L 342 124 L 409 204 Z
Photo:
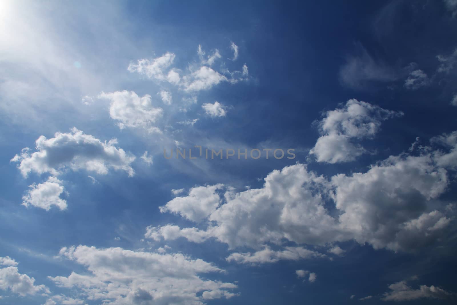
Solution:
M 64 186 L 62 181 L 56 177 L 49 177 L 48 181 L 38 185 L 33 183 L 29 187 L 31 190 L 28 190 L 27 194 L 22 197 L 22 204 L 26 207 L 33 205 L 49 211 L 55 205 L 61 211 L 67 209 L 67 202 L 60 198 L 60 195 L 64 193 Z

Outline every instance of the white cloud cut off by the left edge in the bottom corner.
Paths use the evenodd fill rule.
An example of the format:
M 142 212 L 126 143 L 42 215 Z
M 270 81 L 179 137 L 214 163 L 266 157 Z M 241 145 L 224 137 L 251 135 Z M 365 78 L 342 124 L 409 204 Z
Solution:
M 0 289 L 11 290 L 20 296 L 34 295 L 38 292 L 49 293 L 45 285 L 35 285 L 35 279 L 18 272 L 17 262 L 10 257 L 0 257 L 0 264 L 9 267 L 0 268 Z

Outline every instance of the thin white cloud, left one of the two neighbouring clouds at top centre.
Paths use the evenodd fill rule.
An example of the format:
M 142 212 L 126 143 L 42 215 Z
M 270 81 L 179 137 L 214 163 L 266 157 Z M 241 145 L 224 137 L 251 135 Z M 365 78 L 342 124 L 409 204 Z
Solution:
M 173 64 L 176 55 L 170 52 L 165 53 L 164 55 L 157 57 L 155 59 L 138 59 L 138 64 L 129 64 L 127 70 L 130 72 L 138 72 L 141 75 L 145 75 L 150 79 L 156 80 L 168 80 L 170 79 L 170 74 L 168 76 L 165 74 L 165 70 Z M 174 76 L 172 76 L 174 78 Z

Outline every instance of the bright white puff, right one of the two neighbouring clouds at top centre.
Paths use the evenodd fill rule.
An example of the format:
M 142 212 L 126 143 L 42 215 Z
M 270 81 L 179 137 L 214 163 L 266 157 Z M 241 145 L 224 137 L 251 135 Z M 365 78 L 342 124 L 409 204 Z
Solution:
M 228 81 L 227 77 L 213 69 L 202 66 L 197 71 L 183 77 L 182 86 L 187 92 L 207 90 L 221 81 Z

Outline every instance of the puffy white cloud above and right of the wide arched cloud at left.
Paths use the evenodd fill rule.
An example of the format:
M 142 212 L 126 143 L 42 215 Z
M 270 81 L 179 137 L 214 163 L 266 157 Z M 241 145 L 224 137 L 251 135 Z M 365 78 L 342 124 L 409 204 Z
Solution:
M 111 101 L 110 117 L 119 121 L 119 128 L 141 127 L 156 132 L 157 127 L 152 124 L 162 117 L 163 110 L 152 105 L 149 94 L 139 97 L 133 91 L 116 91 L 111 93 L 102 92 L 98 98 Z

